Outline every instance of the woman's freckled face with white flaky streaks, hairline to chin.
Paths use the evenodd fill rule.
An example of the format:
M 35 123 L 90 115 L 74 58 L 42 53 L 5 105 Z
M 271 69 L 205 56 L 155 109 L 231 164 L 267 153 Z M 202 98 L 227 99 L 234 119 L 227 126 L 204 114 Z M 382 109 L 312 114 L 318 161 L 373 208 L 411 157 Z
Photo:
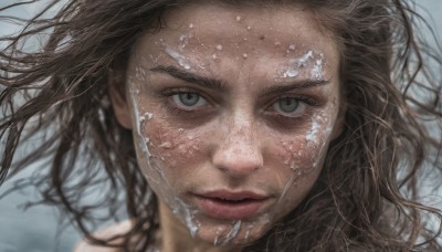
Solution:
M 165 25 L 127 72 L 140 169 L 194 238 L 255 241 L 304 199 L 339 134 L 336 41 L 295 7 L 200 3 Z

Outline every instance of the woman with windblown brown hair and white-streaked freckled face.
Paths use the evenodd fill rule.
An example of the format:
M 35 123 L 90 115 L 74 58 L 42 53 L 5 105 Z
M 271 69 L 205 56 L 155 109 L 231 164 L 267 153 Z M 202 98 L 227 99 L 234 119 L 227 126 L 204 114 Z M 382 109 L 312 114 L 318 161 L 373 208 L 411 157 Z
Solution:
M 40 179 L 80 251 L 441 249 L 425 225 L 441 210 L 417 188 L 441 167 L 423 125 L 441 126 L 422 56 L 438 59 L 410 17 L 387 0 L 71 0 L 6 39 L 1 175 L 54 155 Z M 41 32 L 42 51 L 20 51 Z M 109 192 L 78 204 L 101 169 Z M 93 233 L 92 210 L 114 217 L 122 190 L 129 221 Z

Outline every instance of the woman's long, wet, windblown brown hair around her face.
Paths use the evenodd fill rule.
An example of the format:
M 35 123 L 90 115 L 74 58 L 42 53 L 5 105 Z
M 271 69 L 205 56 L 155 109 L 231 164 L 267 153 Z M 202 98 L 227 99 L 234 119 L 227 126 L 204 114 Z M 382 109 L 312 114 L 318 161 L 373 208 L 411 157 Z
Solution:
M 41 161 L 39 172 L 18 187 L 36 186 L 42 203 L 59 206 L 90 242 L 102 245 L 112 239 L 95 238 L 93 223 L 118 218 L 118 207 L 125 206 L 134 225 L 118 246 L 143 251 L 158 229 L 157 199 L 138 168 L 130 130 L 115 118 L 108 77 L 115 71 L 124 82 L 136 41 L 164 27 L 165 11 L 189 1 L 56 2 L 25 20 L 6 11 L 27 2 L 0 8 L 1 20 L 24 24 L 20 33 L 0 38 L 0 181 Z M 441 174 L 442 57 L 415 33 L 425 22 L 414 6 L 401 0 L 213 2 L 301 4 L 332 32 L 341 53 L 344 132 L 329 146 L 305 200 L 244 251 L 442 250 L 436 240 L 442 212 L 422 203 L 420 195 L 423 179 Z M 32 41 L 41 48 L 30 50 Z M 124 86 L 115 88 L 124 93 Z M 35 146 L 23 150 L 29 143 Z M 101 198 L 81 200 L 103 187 Z

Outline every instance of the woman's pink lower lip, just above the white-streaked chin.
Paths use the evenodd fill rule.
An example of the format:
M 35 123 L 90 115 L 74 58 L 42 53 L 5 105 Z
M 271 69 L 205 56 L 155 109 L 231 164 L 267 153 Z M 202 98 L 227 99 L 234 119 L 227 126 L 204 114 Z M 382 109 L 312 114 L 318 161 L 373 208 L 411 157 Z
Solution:
M 198 206 L 208 216 L 217 219 L 243 220 L 256 214 L 265 199 L 228 201 L 197 196 Z

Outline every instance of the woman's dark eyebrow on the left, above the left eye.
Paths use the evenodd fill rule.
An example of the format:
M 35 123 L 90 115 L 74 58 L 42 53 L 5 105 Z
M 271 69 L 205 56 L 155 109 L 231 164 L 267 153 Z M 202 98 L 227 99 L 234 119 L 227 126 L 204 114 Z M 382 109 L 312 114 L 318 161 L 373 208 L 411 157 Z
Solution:
M 198 76 L 197 74 L 185 72 L 182 70 L 179 70 L 175 66 L 171 65 L 159 65 L 156 67 L 150 69 L 152 72 L 157 73 L 166 73 L 169 74 L 170 76 L 173 76 L 176 78 L 197 84 L 199 86 L 210 88 L 210 90 L 215 90 L 220 92 L 225 92 L 227 86 L 223 81 L 217 80 L 217 78 L 209 78 L 209 77 L 203 77 L 203 76 Z

